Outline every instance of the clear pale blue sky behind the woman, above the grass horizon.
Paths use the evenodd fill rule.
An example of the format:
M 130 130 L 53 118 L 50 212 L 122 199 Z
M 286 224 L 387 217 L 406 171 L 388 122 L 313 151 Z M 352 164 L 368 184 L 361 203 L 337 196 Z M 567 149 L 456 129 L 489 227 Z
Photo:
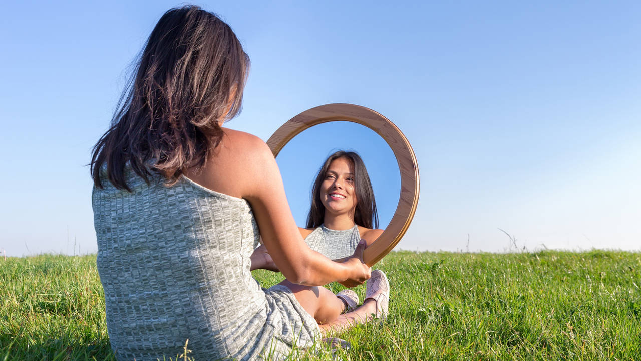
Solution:
M 90 148 L 129 64 L 178 4 L 3 5 L 0 254 L 96 251 Z M 641 250 L 638 1 L 197 4 L 227 21 L 251 57 L 244 111 L 228 127 L 266 141 L 303 110 L 355 103 L 404 132 L 421 192 L 399 248 L 506 251 L 500 228 L 530 250 Z M 310 170 L 293 168 L 297 220 L 335 147 L 374 159 L 381 218 L 390 214 L 397 169 L 381 161 L 374 171 L 387 156 L 360 137 L 351 147 L 311 136 L 292 150 L 321 154 Z

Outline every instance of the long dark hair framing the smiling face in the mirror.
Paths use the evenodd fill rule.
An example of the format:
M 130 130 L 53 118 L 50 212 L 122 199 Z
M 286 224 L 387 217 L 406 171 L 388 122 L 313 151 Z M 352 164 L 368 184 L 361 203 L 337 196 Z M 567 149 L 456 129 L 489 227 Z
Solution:
M 329 155 L 325 163 L 320 167 L 319 173 L 314 180 L 312 189 L 312 206 L 307 215 L 307 228 L 320 227 L 325 221 L 325 206 L 320 201 L 320 184 L 325 179 L 329 164 L 338 158 L 349 160 L 354 166 L 354 191 L 356 193 L 356 209 L 354 210 L 354 223 L 366 228 L 378 228 L 378 211 L 376 211 L 376 200 L 374 200 L 374 189 L 369 181 L 367 169 L 360 155 L 355 152 L 338 152 Z M 374 227 L 372 227 L 372 223 Z

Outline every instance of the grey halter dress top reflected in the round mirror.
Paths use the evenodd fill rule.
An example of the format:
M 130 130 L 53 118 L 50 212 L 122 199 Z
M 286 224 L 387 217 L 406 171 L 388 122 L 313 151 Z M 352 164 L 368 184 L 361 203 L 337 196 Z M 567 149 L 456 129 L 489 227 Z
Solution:
M 358 225 L 354 225 L 351 229 L 337 231 L 321 224 L 305 237 L 305 242 L 311 249 L 322 253 L 330 260 L 338 260 L 354 254 L 360 242 L 360 233 Z

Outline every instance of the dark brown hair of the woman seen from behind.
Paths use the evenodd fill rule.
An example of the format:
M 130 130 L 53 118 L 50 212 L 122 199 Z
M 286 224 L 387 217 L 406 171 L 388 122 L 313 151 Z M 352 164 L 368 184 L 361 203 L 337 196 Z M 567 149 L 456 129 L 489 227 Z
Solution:
M 202 167 L 224 135 L 218 122 L 242 109 L 248 69 L 240 41 L 215 14 L 194 5 L 165 12 L 147 39 L 111 127 L 93 148 L 94 184 L 103 188 L 105 164 L 110 182 L 128 191 L 128 163 L 146 182 L 154 172 L 167 184 L 187 168 Z

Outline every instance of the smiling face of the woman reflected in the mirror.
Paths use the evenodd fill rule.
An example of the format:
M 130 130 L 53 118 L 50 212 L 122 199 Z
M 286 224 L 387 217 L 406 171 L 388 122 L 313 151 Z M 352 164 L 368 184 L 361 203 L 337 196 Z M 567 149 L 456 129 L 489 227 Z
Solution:
M 356 209 L 354 166 L 349 159 L 340 157 L 329 163 L 320 184 L 320 202 L 326 211 L 335 214 L 351 213 Z

